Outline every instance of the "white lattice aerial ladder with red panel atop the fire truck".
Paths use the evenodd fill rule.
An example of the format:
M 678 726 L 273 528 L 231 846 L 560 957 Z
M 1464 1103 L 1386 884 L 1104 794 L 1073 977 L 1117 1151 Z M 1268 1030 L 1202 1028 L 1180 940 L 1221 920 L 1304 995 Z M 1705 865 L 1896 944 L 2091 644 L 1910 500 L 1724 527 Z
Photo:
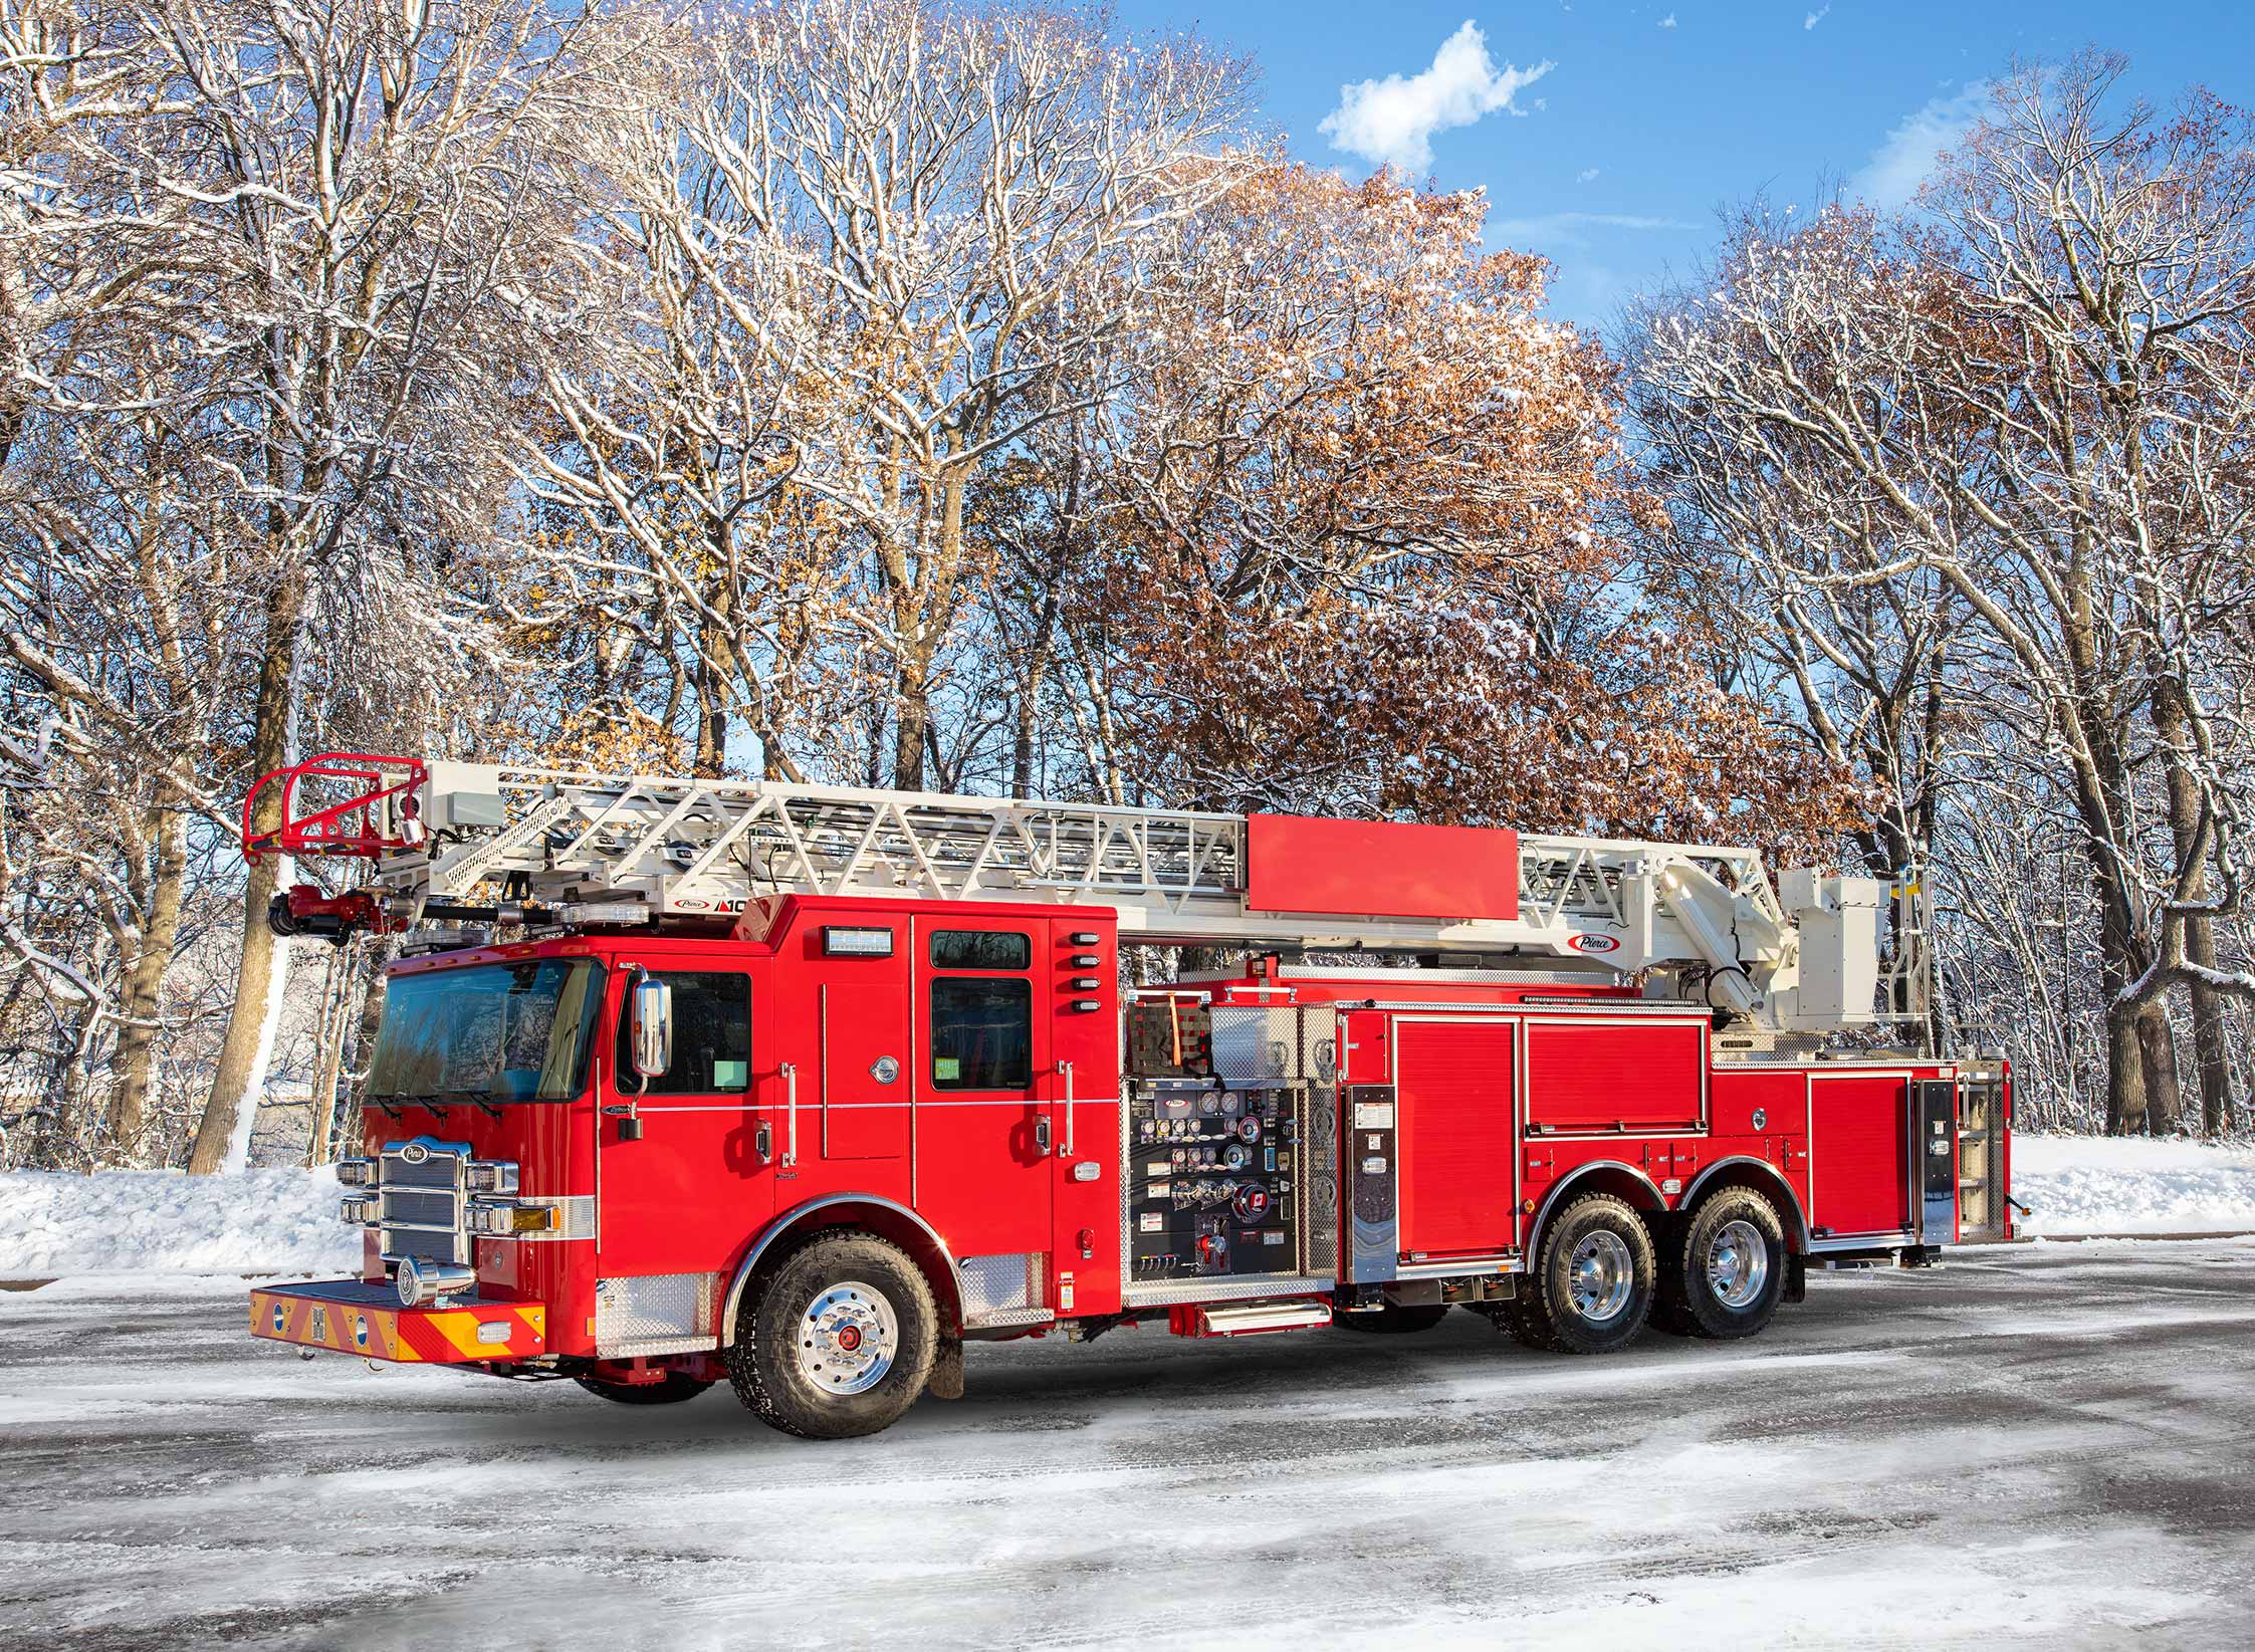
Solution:
M 253 834 L 266 784 L 282 787 L 284 825 Z M 300 931 L 320 915 L 345 931 L 471 913 L 636 924 L 771 895 L 1053 902 L 1114 908 L 1128 942 L 1673 969 L 1775 1030 L 1926 1014 L 1914 883 L 1788 870 L 1781 902 L 1750 847 L 354 755 L 259 791 L 253 854 L 372 861 L 374 904 L 352 897 L 347 917 L 302 890 L 277 920 Z

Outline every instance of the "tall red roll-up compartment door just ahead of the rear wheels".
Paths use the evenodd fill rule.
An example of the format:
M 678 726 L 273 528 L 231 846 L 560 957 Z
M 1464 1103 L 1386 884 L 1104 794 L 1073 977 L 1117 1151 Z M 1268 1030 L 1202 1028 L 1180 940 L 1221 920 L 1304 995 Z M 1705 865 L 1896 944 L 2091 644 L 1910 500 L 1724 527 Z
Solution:
M 1394 1023 L 1405 1253 L 1495 1255 L 1513 1244 L 1515 1037 L 1502 1019 Z

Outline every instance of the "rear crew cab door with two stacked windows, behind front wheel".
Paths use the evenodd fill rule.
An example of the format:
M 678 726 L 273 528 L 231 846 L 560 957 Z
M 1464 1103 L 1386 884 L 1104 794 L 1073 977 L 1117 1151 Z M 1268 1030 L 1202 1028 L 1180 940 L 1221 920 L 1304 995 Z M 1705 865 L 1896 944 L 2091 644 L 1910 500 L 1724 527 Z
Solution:
M 974 1296 L 1044 1307 L 1055 1156 L 1046 924 L 947 913 L 909 931 L 916 1208 Z

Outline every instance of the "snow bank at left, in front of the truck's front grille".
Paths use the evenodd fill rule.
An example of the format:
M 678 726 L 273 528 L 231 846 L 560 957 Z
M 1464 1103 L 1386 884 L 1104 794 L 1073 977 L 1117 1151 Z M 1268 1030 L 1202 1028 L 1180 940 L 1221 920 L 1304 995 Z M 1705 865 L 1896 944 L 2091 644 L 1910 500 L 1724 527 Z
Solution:
M 0 1174 L 0 1280 L 56 1273 L 352 1273 L 334 1170 Z

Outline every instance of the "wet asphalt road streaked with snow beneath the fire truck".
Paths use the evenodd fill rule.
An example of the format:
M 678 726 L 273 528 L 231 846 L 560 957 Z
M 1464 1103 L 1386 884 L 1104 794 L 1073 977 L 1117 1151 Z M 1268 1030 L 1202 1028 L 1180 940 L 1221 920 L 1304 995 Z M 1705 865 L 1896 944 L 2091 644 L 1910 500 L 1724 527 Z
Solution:
M 1818 1276 L 1752 1343 L 1470 1314 L 972 1348 L 807 1445 L 0 1296 L 5 1647 L 2255 1645 L 2255 1242 Z

